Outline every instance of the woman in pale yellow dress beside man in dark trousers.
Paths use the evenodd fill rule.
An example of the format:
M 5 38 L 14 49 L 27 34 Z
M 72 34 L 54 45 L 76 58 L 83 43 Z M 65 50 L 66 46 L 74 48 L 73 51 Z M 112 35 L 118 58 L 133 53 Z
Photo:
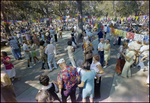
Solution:
M 105 66 L 103 68 L 107 67 L 109 59 L 110 59 L 110 39 L 107 39 L 106 43 L 104 44 L 104 61 L 105 61 Z

